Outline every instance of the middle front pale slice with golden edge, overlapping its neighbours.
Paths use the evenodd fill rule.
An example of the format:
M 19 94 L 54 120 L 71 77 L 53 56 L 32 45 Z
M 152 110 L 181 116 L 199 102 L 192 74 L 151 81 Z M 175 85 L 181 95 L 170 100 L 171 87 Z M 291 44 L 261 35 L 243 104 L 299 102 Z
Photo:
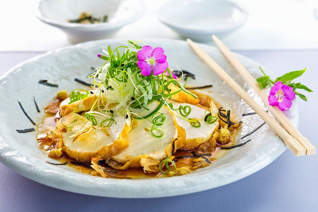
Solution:
M 152 102 L 148 108 L 156 109 L 158 102 Z M 112 156 L 112 159 L 118 163 L 125 164 L 118 169 L 126 169 L 130 166 L 141 166 L 142 158 L 155 160 L 165 159 L 172 155 L 172 146 L 174 143 L 174 152 L 183 145 L 185 132 L 176 124 L 176 119 L 168 107 L 163 107 L 160 111 L 166 117 L 160 127 L 164 134 L 161 138 L 151 135 L 151 117 L 144 120 L 134 120 L 132 130 L 128 132 L 128 147 L 121 153 Z M 147 113 L 147 112 L 144 112 Z M 139 114 L 142 116 L 143 114 Z M 159 114 L 158 114 L 159 115 Z M 156 132 L 154 131 L 156 134 Z

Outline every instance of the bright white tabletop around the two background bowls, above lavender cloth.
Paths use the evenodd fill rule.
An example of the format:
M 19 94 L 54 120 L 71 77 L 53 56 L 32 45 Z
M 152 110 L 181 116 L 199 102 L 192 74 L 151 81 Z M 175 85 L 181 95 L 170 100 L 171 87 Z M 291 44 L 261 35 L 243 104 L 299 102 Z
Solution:
M 48 51 L 71 45 L 63 32 L 34 16 L 36 1 L 0 1 L 0 51 Z M 110 38 L 182 39 L 156 17 L 158 8 L 167 1 L 145 0 L 143 17 Z M 230 49 L 318 49 L 318 21 L 312 5 L 307 4 L 318 0 L 236 1 L 245 4 L 249 19 L 246 25 L 223 39 Z

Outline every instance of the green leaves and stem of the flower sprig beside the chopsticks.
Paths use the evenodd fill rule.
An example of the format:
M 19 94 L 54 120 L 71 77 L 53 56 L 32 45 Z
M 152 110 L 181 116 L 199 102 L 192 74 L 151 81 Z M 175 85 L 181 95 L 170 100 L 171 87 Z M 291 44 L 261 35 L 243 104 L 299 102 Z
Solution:
M 287 74 L 284 74 L 280 77 L 277 77 L 275 79 L 275 81 L 271 80 L 270 77 L 265 74 L 265 72 L 263 71 L 263 69 L 261 67 L 259 67 L 259 69 L 262 71 L 264 76 L 257 78 L 256 81 L 259 83 L 259 86 L 263 89 L 266 88 L 267 85 L 274 86 L 274 84 L 276 82 L 281 81 L 284 85 L 287 85 L 287 86 L 293 88 L 293 91 L 295 92 L 295 94 L 298 95 L 301 99 L 303 99 L 305 101 L 307 101 L 307 97 L 305 95 L 295 91 L 295 90 L 296 89 L 303 89 L 303 90 L 308 91 L 308 92 L 313 92 L 311 89 L 309 89 L 307 86 L 301 84 L 300 82 L 293 81 L 297 77 L 300 77 L 302 74 L 304 74 L 306 71 L 306 68 L 303 70 L 292 71 L 292 72 L 289 72 Z

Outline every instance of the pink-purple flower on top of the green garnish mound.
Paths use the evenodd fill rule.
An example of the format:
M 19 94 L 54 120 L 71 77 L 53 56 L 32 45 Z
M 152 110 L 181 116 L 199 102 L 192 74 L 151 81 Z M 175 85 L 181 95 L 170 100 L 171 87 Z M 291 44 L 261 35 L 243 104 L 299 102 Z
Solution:
M 151 71 L 154 75 L 164 72 L 168 68 L 167 56 L 163 54 L 164 51 L 161 47 L 153 49 L 151 46 L 143 46 L 137 52 L 138 67 L 144 76 L 149 76 Z

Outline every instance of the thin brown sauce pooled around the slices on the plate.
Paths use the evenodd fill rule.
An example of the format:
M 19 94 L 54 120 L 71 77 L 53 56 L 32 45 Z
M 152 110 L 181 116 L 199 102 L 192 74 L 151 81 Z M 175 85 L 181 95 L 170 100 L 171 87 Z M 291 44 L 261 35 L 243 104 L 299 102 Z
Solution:
M 198 95 L 198 98 L 200 99 L 200 104 L 204 107 L 210 107 L 209 103 L 206 100 L 205 95 L 202 95 L 200 93 L 194 92 L 196 95 Z M 218 102 L 214 102 L 217 107 L 220 107 L 220 104 Z M 234 115 L 234 114 L 233 114 Z M 233 116 L 234 117 L 234 116 Z M 56 127 L 56 120 L 59 119 L 59 112 L 57 112 L 54 116 L 52 116 L 51 113 L 46 113 L 44 117 L 44 122 L 41 126 L 38 128 L 38 135 L 37 135 L 37 140 L 39 147 L 43 149 L 45 152 L 49 151 L 50 146 L 52 145 L 52 140 L 50 138 L 46 137 L 46 126 L 53 126 Z M 219 157 L 222 157 L 225 155 L 227 150 L 222 150 L 219 147 L 221 146 L 229 146 L 229 145 L 234 145 L 235 144 L 235 137 L 238 131 L 231 132 L 232 136 L 232 142 L 226 144 L 226 145 L 220 145 L 217 144 L 217 148 L 214 152 L 211 152 L 211 156 L 207 156 L 211 160 L 218 159 Z M 177 150 L 173 156 L 175 156 L 175 159 L 180 156 L 186 156 L 186 155 L 192 155 L 193 150 Z M 195 151 L 195 150 L 194 150 Z M 196 153 L 200 154 L 200 152 L 195 151 Z M 192 166 L 192 161 L 193 159 L 196 159 L 196 157 L 191 157 L 191 158 L 179 158 L 175 161 L 176 167 L 187 167 L 191 168 Z M 81 173 L 86 173 L 86 174 L 93 174 L 95 172 L 94 169 L 90 169 L 81 165 L 74 165 L 71 162 L 75 161 L 74 159 L 71 159 L 67 157 L 65 154 L 63 154 L 62 158 L 56 159 L 56 163 L 65 163 L 67 162 L 66 166 L 70 166 L 74 168 L 75 170 L 81 172 Z M 54 166 L 54 165 L 52 165 Z M 111 178 L 128 178 L 128 179 L 142 179 L 142 178 L 155 178 L 157 174 L 149 174 L 149 173 L 144 173 L 142 168 L 129 168 L 126 170 L 116 170 L 113 169 L 105 164 L 105 162 L 102 162 L 102 166 L 106 168 L 105 172 L 107 173 L 107 176 Z M 169 165 L 172 170 L 174 170 L 174 167 L 172 164 Z M 162 169 L 164 172 L 168 172 L 166 167 Z M 162 174 L 161 176 L 165 176 Z

